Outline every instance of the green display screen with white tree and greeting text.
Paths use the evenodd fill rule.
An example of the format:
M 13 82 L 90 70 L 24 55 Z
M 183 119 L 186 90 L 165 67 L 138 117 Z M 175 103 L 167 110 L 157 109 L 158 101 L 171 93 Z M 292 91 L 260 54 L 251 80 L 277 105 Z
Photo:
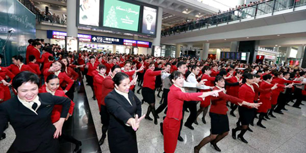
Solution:
M 118 0 L 105 0 L 103 26 L 137 32 L 139 24 L 139 13 L 139 5 Z

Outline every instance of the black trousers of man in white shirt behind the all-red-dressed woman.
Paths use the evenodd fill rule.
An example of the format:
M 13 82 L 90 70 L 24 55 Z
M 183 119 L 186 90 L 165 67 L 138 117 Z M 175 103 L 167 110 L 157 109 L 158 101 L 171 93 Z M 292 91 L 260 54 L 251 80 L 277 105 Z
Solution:
M 184 101 L 184 105 L 183 105 L 183 111 L 186 111 L 187 108 L 190 111 L 190 114 L 185 122 L 186 125 L 192 125 L 192 123 L 195 121 L 196 119 L 196 114 L 197 114 L 197 110 L 196 110 L 196 101 Z

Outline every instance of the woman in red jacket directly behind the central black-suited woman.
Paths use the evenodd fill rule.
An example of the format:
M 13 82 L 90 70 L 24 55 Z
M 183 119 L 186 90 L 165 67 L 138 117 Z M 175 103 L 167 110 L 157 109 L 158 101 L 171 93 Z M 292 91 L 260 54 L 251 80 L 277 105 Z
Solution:
M 101 123 L 103 124 L 102 126 L 102 137 L 99 140 L 99 145 L 102 145 L 104 143 L 104 140 L 106 138 L 106 132 L 108 130 L 108 126 L 109 126 L 109 120 L 110 120 L 110 115 L 106 109 L 105 106 L 105 97 L 112 91 L 114 90 L 115 86 L 114 86 L 114 81 L 113 81 L 113 77 L 115 76 L 116 73 L 120 72 L 121 68 L 119 65 L 114 65 L 110 71 L 110 75 L 108 75 L 103 82 L 101 83 L 101 95 L 100 95 L 100 101 L 98 100 L 98 106 L 99 106 L 99 110 L 100 110 L 100 116 L 101 116 Z

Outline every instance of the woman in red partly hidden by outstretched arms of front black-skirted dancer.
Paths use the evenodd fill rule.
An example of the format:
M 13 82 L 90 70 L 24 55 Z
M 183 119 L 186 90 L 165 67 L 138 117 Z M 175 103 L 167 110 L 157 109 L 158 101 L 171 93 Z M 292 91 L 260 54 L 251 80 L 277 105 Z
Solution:
M 232 77 L 231 79 L 228 79 L 229 83 L 236 83 L 239 82 L 241 80 L 242 77 L 242 71 L 237 71 L 235 77 Z M 228 95 L 234 96 L 238 98 L 238 91 L 239 91 L 240 86 L 230 86 L 229 90 L 227 92 Z M 231 112 L 230 114 L 234 117 L 236 117 L 236 115 L 234 114 L 234 111 L 238 108 L 238 105 L 235 105 L 233 103 L 231 103 Z

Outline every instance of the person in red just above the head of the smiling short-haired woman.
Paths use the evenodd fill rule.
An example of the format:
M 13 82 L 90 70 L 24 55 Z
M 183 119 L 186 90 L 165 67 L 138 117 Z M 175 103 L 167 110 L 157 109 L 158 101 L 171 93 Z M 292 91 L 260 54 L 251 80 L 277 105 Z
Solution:
M 29 65 L 25 65 L 22 63 L 23 57 L 20 55 L 15 55 L 12 57 L 12 62 L 10 66 L 6 67 L 9 71 L 11 71 L 14 75 L 17 75 L 22 71 L 30 71 L 36 74 L 36 71 L 32 69 Z

